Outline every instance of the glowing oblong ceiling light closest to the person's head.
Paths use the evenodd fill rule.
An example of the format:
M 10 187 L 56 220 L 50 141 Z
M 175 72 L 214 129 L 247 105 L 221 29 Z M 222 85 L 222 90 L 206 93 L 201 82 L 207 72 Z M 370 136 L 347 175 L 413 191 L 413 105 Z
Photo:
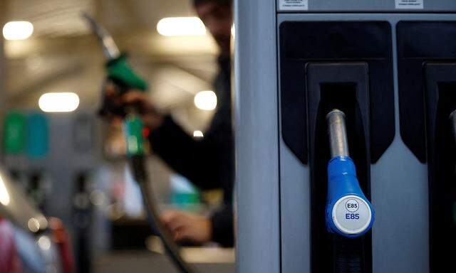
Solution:
M 168 17 L 157 23 L 162 36 L 204 36 L 206 27 L 198 17 Z

